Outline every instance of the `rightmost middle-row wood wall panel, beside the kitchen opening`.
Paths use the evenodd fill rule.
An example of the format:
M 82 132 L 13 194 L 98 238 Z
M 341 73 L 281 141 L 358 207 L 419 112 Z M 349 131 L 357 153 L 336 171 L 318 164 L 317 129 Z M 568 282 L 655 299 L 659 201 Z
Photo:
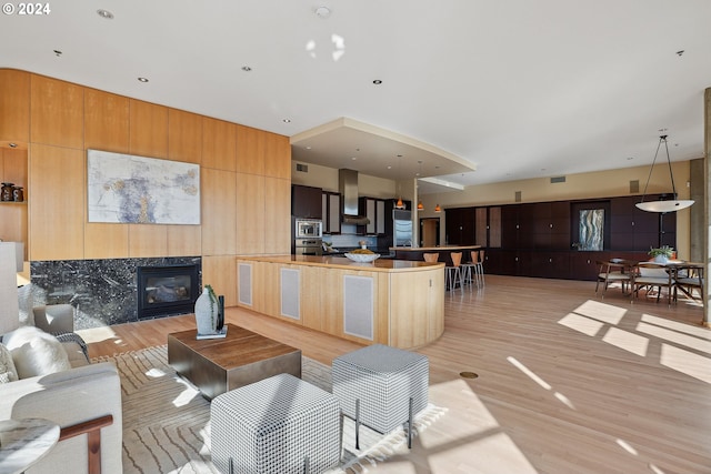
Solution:
M 264 178 L 264 253 L 291 252 L 291 182 Z

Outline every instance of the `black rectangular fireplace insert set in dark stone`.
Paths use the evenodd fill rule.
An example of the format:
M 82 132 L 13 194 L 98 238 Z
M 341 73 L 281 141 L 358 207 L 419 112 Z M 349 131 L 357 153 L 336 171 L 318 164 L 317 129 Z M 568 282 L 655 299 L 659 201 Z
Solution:
M 138 319 L 192 313 L 200 295 L 198 265 L 139 266 Z

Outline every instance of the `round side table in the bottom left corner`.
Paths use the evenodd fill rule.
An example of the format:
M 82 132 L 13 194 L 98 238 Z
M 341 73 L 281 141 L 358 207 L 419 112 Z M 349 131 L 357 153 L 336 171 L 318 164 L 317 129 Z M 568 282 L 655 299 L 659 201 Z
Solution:
M 19 474 L 50 452 L 59 425 L 42 418 L 0 421 L 0 474 Z

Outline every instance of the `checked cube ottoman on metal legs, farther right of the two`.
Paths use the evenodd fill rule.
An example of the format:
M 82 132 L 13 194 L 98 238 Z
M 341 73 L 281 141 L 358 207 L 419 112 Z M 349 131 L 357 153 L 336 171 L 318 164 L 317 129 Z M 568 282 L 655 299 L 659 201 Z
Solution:
M 374 344 L 333 360 L 333 395 L 343 414 L 356 420 L 356 447 L 360 423 L 388 433 L 408 422 L 412 446 L 412 417 L 428 404 L 430 363 L 427 356 Z

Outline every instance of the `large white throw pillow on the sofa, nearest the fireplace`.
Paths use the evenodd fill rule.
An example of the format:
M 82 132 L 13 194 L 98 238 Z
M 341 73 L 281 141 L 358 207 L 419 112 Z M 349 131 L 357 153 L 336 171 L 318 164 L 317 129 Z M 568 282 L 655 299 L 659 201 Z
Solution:
M 71 369 L 62 344 L 38 327 L 20 327 L 6 337 L 20 379 Z

